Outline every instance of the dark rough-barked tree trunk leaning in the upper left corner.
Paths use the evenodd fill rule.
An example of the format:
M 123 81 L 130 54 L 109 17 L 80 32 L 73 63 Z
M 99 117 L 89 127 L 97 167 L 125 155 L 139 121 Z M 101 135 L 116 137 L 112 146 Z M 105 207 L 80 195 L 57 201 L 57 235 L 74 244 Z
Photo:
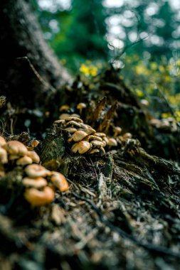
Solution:
M 37 107 L 48 93 L 70 80 L 44 41 L 29 1 L 1 1 L 0 31 L 1 94 L 10 102 Z

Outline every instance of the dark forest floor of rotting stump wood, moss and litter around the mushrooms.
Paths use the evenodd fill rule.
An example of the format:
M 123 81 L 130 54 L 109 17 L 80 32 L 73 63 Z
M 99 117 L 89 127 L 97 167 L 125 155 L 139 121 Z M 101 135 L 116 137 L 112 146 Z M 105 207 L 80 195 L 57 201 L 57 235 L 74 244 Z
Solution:
M 80 102 L 86 105 L 82 111 Z M 1 136 L 26 146 L 38 139 L 41 164 L 63 173 L 70 188 L 56 190 L 50 204 L 32 207 L 23 197 L 24 167 L 4 166 L 0 269 L 179 269 L 180 132 L 175 119 L 154 119 L 112 68 L 91 81 L 77 77 L 46 104 L 57 107 L 17 110 L 7 102 L 1 108 Z M 64 104 L 68 109 L 59 112 Z M 63 113 L 80 114 L 117 145 L 105 146 L 105 153 L 98 147 L 95 154 L 72 153 L 69 132 L 61 122 L 53 124 Z M 122 129 L 118 136 L 117 126 Z

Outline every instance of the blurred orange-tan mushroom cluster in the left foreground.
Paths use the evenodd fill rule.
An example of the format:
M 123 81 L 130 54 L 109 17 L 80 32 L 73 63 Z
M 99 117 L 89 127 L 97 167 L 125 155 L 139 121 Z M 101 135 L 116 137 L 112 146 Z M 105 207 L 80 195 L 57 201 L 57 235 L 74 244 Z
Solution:
M 24 197 L 33 206 L 46 205 L 55 198 L 55 189 L 68 190 L 64 175 L 48 171 L 38 164 L 40 158 L 35 151 L 29 151 L 20 141 L 7 141 L 0 136 L 0 178 L 6 175 L 9 164 L 21 166 Z

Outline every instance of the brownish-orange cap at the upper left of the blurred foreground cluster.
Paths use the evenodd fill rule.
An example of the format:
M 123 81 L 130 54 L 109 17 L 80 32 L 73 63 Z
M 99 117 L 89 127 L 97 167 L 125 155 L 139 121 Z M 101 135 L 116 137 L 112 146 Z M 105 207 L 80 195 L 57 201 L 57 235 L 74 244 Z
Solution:
M 2 146 L 9 154 L 25 156 L 28 149 L 20 141 L 8 141 Z

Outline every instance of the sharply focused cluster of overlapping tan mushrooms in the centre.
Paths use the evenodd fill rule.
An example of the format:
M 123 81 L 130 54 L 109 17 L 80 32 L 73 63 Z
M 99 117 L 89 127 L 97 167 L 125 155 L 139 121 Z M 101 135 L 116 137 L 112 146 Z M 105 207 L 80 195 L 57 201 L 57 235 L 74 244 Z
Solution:
M 96 132 L 92 126 L 84 124 L 83 120 L 79 117 L 66 117 L 54 121 L 55 124 L 60 126 L 70 133 L 69 142 L 73 142 L 71 151 L 73 153 L 100 153 L 102 156 L 105 154 L 105 146 L 108 144 L 108 139 L 105 133 Z

